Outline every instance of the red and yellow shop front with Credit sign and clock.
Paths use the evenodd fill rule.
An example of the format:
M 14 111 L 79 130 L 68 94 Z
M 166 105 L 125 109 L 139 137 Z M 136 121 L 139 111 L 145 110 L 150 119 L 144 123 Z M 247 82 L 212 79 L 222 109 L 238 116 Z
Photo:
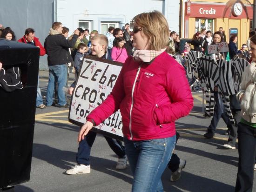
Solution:
M 214 1 L 214 0 L 213 0 Z M 212 33 L 223 27 L 226 39 L 232 34 L 238 37 L 238 48 L 246 43 L 250 21 L 253 17 L 253 7 L 249 2 L 233 1 L 227 2 L 200 2 L 188 0 L 184 6 L 184 17 L 182 24 L 182 36 L 192 38 L 193 35 L 205 28 Z M 183 4 L 183 5 L 184 5 Z

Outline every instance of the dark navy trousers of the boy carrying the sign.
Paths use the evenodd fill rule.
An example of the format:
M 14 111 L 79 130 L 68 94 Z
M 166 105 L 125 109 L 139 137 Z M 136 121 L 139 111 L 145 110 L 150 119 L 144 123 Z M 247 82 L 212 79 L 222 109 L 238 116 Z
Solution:
M 83 140 L 79 142 L 78 151 L 76 153 L 77 164 L 90 165 L 90 153 L 91 148 L 94 144 L 94 140 L 97 133 L 89 131 Z M 125 158 L 124 146 L 120 140 L 112 139 L 110 137 L 104 136 L 108 142 L 110 148 L 115 152 L 119 158 Z

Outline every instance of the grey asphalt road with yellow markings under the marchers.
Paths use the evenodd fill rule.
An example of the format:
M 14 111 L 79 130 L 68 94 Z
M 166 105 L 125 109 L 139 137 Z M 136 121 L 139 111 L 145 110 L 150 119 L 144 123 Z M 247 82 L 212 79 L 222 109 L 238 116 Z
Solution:
M 40 72 L 42 95 L 46 95 L 46 72 Z M 72 77 L 69 84 L 72 83 Z M 232 192 L 235 189 L 238 150 L 222 147 L 227 143 L 227 130 L 221 120 L 214 139 L 203 134 L 210 119 L 202 116 L 202 93 L 193 93 L 194 108 L 189 116 L 179 119 L 176 128 L 181 137 L 175 153 L 187 160 L 182 177 L 170 182 L 168 168 L 162 175 L 166 192 Z M 36 110 L 34 150 L 31 178 L 15 186 L 16 192 L 130 192 L 132 176 L 129 166 L 116 170 L 117 156 L 106 140 L 98 135 L 91 151 L 91 173 L 66 175 L 65 170 L 76 164 L 75 155 L 79 127 L 70 124 L 68 110 L 47 107 Z M 255 180 L 255 179 L 254 179 Z M 254 190 L 256 191 L 256 182 Z

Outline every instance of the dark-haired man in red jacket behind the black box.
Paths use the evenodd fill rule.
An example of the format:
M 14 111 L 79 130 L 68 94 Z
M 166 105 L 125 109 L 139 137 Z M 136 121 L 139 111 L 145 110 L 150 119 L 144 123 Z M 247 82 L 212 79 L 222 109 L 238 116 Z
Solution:
M 25 30 L 25 35 L 22 38 L 20 38 L 18 42 L 37 46 L 38 48 L 40 48 L 40 56 L 44 56 L 46 53 L 45 48 L 40 43 L 39 39 L 34 36 L 34 29 L 32 28 L 27 28 Z M 36 107 L 40 109 L 46 108 L 46 106 L 43 104 L 43 98 L 42 98 L 41 90 L 39 87 L 39 77 L 38 77 L 38 84 L 37 84 Z

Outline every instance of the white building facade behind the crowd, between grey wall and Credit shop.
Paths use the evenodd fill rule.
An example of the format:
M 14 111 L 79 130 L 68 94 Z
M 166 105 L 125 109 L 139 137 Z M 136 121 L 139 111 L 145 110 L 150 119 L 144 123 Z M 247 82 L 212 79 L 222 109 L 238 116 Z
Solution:
M 179 0 L 129 0 L 128 3 L 122 4 L 116 0 L 94 2 L 57 0 L 56 20 L 69 27 L 70 31 L 79 26 L 79 20 L 88 20 L 91 30 L 102 33 L 101 22 L 117 22 L 117 26 L 121 28 L 125 23 L 130 23 L 135 15 L 157 10 L 165 14 L 171 30 L 179 30 Z

